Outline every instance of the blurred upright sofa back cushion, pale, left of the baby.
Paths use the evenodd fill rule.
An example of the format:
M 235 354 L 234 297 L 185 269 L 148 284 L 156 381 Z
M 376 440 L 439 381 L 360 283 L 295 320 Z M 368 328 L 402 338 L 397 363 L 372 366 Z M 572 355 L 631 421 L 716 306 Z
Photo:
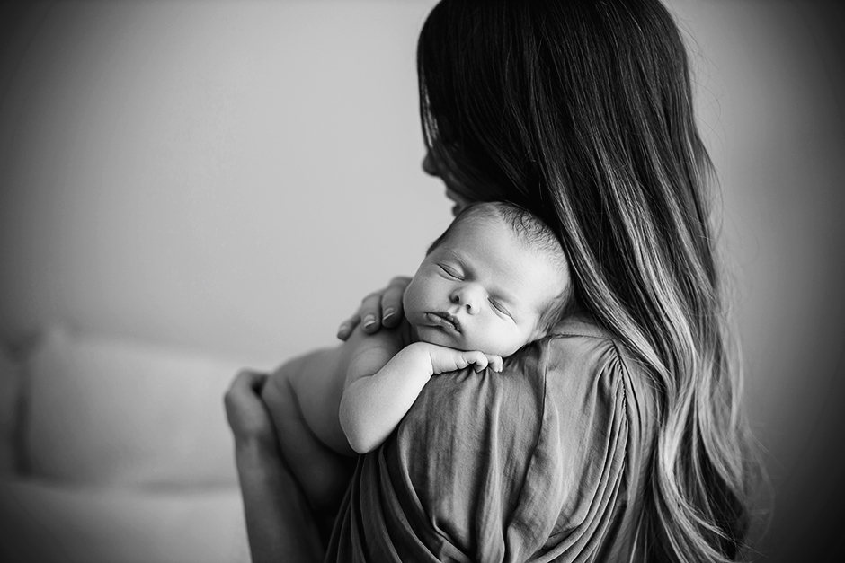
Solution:
M 51 327 L 24 365 L 29 469 L 95 485 L 233 485 L 223 394 L 243 365 Z

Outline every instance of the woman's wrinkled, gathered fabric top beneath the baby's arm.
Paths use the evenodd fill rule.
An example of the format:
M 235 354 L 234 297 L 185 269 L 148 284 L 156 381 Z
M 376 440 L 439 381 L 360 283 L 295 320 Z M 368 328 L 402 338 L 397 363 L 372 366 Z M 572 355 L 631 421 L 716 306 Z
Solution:
M 433 377 L 360 457 L 326 561 L 624 559 L 654 432 L 633 367 L 570 320 L 499 374 Z

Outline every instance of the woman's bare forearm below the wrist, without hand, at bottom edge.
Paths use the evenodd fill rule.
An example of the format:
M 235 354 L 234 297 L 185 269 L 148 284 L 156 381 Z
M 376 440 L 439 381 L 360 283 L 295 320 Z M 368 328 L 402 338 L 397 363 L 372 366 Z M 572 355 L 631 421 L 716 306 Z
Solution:
M 236 463 L 253 562 L 322 561 L 314 516 L 278 448 L 237 444 Z

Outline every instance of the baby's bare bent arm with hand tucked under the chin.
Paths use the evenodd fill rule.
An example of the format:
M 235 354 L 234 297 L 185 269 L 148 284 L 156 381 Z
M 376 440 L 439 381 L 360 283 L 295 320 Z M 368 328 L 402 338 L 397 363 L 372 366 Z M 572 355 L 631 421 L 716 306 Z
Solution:
M 340 423 L 352 449 L 367 453 L 393 432 L 434 374 L 453 372 L 467 365 L 481 371 L 490 365 L 502 370 L 502 357 L 415 342 L 395 356 L 387 347 L 361 349 L 353 357 L 340 407 Z

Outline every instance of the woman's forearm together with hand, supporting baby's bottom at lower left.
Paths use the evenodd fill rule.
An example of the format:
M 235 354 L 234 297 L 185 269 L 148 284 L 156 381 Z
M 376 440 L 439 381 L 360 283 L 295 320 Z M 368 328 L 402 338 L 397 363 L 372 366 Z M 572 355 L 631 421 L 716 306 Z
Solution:
M 314 516 L 281 457 L 270 413 L 261 399 L 266 374 L 243 371 L 226 393 L 254 563 L 322 561 Z

